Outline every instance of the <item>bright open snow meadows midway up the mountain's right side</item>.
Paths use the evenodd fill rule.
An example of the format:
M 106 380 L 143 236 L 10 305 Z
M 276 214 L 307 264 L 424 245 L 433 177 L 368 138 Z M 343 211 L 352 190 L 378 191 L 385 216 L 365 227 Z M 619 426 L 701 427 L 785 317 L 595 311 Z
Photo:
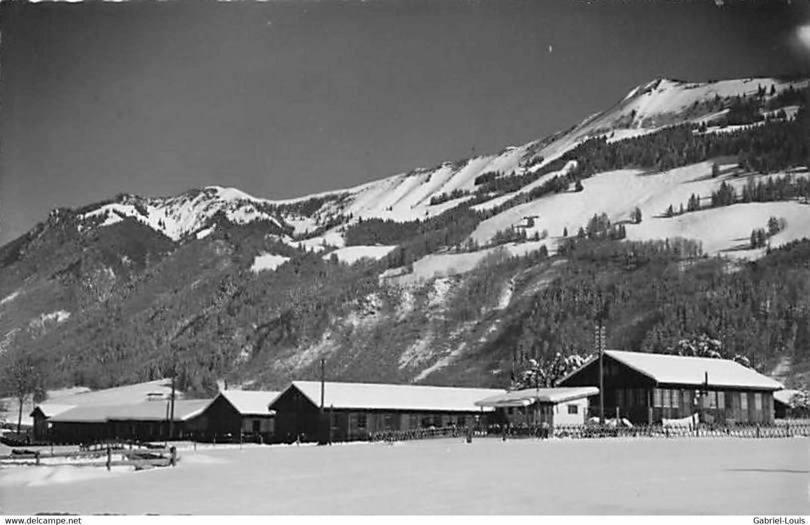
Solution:
M 527 216 L 537 216 L 534 226 L 526 228 L 530 237 L 544 230 L 552 237 L 558 236 L 564 228 L 569 235 L 577 235 L 579 227 L 586 227 L 594 214 L 606 213 L 612 222 L 628 221 L 636 206 L 642 210 L 642 222 L 625 225 L 628 239 L 699 239 L 704 252 L 710 255 L 725 252 L 731 256 L 761 256 L 761 251 L 737 250 L 748 244 L 754 228 L 767 227 L 770 216 L 787 219 L 785 231 L 770 239 L 773 247 L 801 239 L 810 232 L 810 206 L 798 201 L 738 204 L 663 217 L 667 206 L 672 205 L 677 212 L 681 204 L 686 206 L 692 194 L 701 197 L 702 206 L 708 206 L 711 192 L 718 188 L 720 180 L 734 186 L 739 195 L 749 178 L 755 182 L 767 179 L 759 175 L 712 179 L 710 174 L 708 162 L 654 174 L 637 170 L 600 173 L 582 181 L 582 192 L 552 194 L 488 218 L 473 231 L 471 238 L 487 243 L 497 231 L 522 224 Z M 415 263 L 415 269 L 416 266 Z

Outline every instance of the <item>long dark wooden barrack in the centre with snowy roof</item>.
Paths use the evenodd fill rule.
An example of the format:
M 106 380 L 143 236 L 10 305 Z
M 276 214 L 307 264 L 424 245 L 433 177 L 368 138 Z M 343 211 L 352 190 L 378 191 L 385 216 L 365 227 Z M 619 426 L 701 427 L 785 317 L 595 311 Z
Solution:
M 294 381 L 270 404 L 275 441 L 368 438 L 382 430 L 474 426 L 492 408 L 475 401 L 505 391 L 491 388 L 426 387 L 380 383 Z M 323 407 L 323 411 L 321 410 Z

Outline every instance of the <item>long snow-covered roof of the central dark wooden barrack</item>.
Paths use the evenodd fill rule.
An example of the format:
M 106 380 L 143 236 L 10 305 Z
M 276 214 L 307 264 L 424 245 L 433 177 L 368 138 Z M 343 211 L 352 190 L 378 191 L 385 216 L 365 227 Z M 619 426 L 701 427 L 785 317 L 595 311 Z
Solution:
M 293 381 L 313 404 L 321 404 L 319 381 Z M 425 387 L 381 383 L 326 382 L 324 406 L 335 409 L 424 410 L 434 412 L 480 412 L 475 401 L 502 394 L 497 388 Z M 483 409 L 491 411 L 492 409 Z

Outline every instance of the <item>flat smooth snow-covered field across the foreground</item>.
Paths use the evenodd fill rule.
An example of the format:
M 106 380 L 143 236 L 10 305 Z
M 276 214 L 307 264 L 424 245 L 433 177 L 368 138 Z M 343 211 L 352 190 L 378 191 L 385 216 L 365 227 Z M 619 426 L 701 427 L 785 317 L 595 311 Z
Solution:
M 0 513 L 808 514 L 808 459 L 804 438 L 201 448 L 143 472 L 0 470 Z

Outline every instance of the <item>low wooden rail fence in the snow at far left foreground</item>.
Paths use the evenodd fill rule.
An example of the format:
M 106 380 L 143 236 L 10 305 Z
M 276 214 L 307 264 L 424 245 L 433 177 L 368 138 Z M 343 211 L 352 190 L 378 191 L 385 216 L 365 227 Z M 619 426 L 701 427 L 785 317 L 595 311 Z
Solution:
M 118 456 L 121 459 L 113 459 Z M 93 461 L 93 459 L 98 459 L 98 461 Z M 106 447 L 96 450 L 63 452 L 15 450 L 9 455 L 0 455 L 0 464 L 73 465 L 75 467 L 106 467 L 107 470 L 112 467 L 129 465 L 139 470 L 151 467 L 173 467 L 177 464 L 177 459 L 175 447 L 134 449 Z

